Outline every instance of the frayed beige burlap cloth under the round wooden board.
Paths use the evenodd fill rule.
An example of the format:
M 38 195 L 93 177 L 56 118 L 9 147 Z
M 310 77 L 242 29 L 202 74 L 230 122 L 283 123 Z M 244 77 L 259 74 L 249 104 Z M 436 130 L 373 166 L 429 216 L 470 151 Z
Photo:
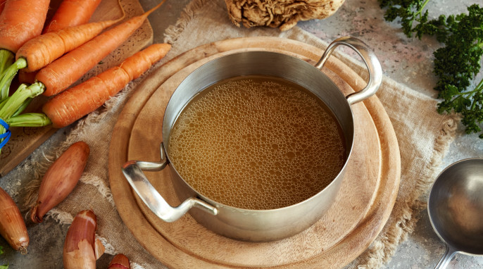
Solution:
M 227 17 L 225 2 L 222 0 L 192 1 L 182 13 L 177 25 L 173 25 L 166 32 L 165 41 L 172 44 L 172 50 L 143 77 L 149 76 L 156 68 L 162 68 L 163 63 L 184 51 L 232 37 L 277 36 L 296 39 L 320 48 L 327 45 L 298 27 L 287 32 L 265 27 L 237 28 Z M 340 53 L 335 55 L 357 73 L 365 76 L 365 68 L 358 61 Z M 18 182 L 17 177 L 31 177 L 34 171 L 33 177 L 37 180 L 32 182 L 31 189 L 20 190 L 20 187 L 17 187 L 18 192 L 27 191 L 34 194 L 30 201 L 25 201 L 23 206 L 27 208 L 35 201 L 39 179 L 51 161 L 73 142 L 87 142 L 91 147 L 91 155 L 80 183 L 65 201 L 47 214 L 47 218 L 55 218 L 60 224 L 70 223 L 77 212 L 92 208 L 98 216 L 98 236 L 105 244 L 107 253 L 127 255 L 133 262 L 132 268 L 163 268 L 159 261 L 142 248 L 120 219 L 108 180 L 107 156 L 113 126 L 123 104 L 143 77 L 132 82 L 103 108 L 80 120 L 70 130 L 63 130 L 68 132 L 65 136 L 62 131 L 58 132 L 12 173 L 6 175 L 7 178 L 4 180 Z M 348 265 L 349 268 L 380 267 L 389 261 L 396 246 L 413 231 L 415 215 L 425 204 L 420 197 L 427 194 L 434 180 L 435 171 L 453 140 L 457 125 L 457 120 L 453 116 L 439 115 L 436 112 L 437 101 L 403 87 L 387 77 L 384 77 L 377 96 L 391 118 L 399 141 L 401 188 L 384 230 L 367 251 Z M 60 139 L 62 141 L 59 141 Z

